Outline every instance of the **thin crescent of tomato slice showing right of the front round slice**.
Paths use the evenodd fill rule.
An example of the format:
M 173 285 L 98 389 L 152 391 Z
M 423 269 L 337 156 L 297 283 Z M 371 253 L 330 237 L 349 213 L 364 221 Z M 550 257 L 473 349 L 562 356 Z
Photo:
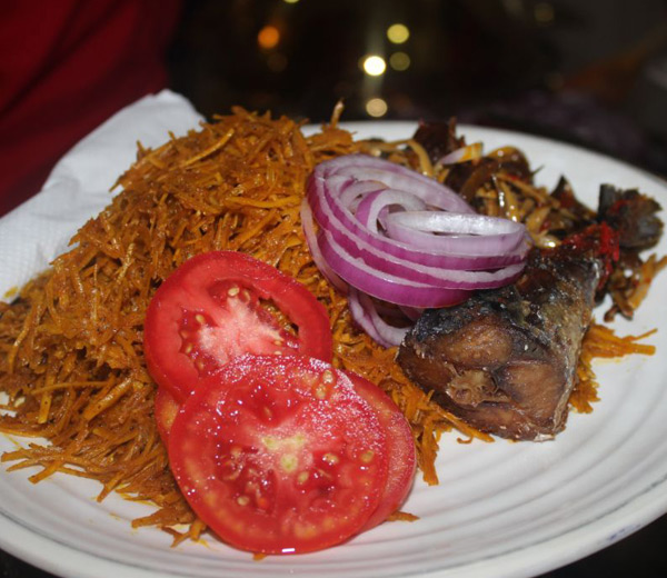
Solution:
M 394 400 L 361 376 L 351 371 L 346 371 L 346 375 L 352 380 L 357 393 L 376 410 L 380 425 L 387 430 L 387 484 L 379 506 L 364 526 L 364 530 L 369 530 L 384 522 L 406 501 L 417 470 L 417 450 L 410 425 Z

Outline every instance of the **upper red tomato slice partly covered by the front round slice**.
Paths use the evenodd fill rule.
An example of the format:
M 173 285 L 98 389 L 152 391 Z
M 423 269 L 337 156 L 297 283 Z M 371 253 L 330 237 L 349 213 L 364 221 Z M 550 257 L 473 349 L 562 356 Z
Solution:
M 296 279 L 246 253 L 212 251 L 158 288 L 145 321 L 152 378 L 183 401 L 238 355 L 300 353 L 331 360 L 325 307 Z

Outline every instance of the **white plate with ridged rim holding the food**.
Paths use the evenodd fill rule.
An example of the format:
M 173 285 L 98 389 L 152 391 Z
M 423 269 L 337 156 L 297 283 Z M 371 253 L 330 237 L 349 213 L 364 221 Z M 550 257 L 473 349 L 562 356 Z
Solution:
M 412 123 L 351 123 L 359 137 L 405 138 Z M 537 181 L 560 175 L 597 206 L 601 182 L 639 187 L 667 206 L 659 179 L 609 158 L 563 143 L 466 127 L 468 141 L 489 151 L 522 149 Z M 1 226 L 1 223 L 0 223 Z M 18 241 L 17 241 L 18 242 Z M 667 252 L 667 239 L 657 249 Z M 596 365 L 601 401 L 591 415 L 570 415 L 567 429 L 544 444 L 474 442 L 444 437 L 440 485 L 420 480 L 405 506 L 420 519 L 385 524 L 327 551 L 255 561 L 213 539 L 170 548 L 156 529 L 132 530 L 148 507 L 111 497 L 99 487 L 56 476 L 37 486 L 28 472 L 0 470 L 0 547 L 53 574 L 126 578 L 358 576 L 532 576 L 605 548 L 667 511 L 667 275 L 620 333 L 660 331 L 648 340 L 654 357 Z M 0 438 L 0 449 L 12 442 Z M 7 466 L 4 466 L 7 467 Z

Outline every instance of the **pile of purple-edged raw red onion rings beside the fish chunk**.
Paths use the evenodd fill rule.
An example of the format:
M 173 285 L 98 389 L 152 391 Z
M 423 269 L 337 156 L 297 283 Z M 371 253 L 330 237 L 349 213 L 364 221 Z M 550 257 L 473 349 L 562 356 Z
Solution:
M 349 286 L 351 315 L 386 347 L 407 329 L 385 321 L 370 297 L 415 320 L 421 309 L 511 282 L 529 249 L 521 223 L 477 215 L 436 180 L 364 155 L 315 168 L 301 219 L 316 265 L 338 288 Z

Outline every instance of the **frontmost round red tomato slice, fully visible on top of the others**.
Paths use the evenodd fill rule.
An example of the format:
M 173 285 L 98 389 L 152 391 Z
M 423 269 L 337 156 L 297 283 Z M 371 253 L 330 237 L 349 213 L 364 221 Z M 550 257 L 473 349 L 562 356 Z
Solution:
M 197 515 L 253 552 L 307 552 L 357 534 L 387 480 L 387 436 L 323 361 L 240 356 L 181 407 L 169 460 Z

